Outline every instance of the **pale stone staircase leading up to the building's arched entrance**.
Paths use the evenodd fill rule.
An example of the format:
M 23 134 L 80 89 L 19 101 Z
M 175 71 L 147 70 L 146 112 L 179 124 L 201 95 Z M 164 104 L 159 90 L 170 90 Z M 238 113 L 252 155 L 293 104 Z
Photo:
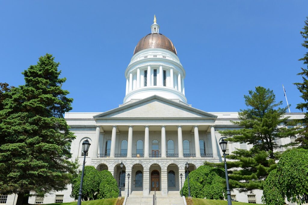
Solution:
M 154 191 L 148 196 L 143 196 L 142 191 L 133 191 L 126 200 L 125 205 L 153 205 Z M 179 191 L 169 191 L 168 195 L 161 195 L 161 191 L 156 191 L 157 205 L 184 205 L 183 198 Z

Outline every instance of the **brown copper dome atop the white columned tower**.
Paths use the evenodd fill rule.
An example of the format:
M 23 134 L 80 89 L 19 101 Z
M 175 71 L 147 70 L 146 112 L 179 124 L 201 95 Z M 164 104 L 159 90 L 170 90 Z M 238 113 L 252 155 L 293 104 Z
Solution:
M 165 37 L 163 34 L 159 33 L 148 34 L 145 37 L 141 38 L 138 44 L 136 45 L 136 48 L 134 50 L 134 55 L 139 51 L 148 48 L 162 48 L 169 50 L 177 55 L 176 49 L 171 40 Z

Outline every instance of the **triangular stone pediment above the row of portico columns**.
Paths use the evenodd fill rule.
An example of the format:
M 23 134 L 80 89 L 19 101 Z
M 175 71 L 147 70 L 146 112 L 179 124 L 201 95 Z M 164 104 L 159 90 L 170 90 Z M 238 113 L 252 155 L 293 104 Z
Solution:
M 217 118 L 217 116 L 160 96 L 151 96 L 119 108 L 103 112 L 94 118 Z

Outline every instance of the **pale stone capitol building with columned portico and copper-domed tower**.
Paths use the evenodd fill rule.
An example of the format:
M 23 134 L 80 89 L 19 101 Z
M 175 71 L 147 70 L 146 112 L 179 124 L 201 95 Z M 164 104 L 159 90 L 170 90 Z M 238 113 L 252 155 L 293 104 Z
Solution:
M 238 120 L 238 113 L 205 112 L 188 104 L 185 69 L 172 41 L 160 33 L 156 18 L 151 33 L 137 43 L 124 76 L 125 96 L 120 106 L 105 112 L 65 114 L 76 136 L 71 144 L 72 159 L 79 158 L 81 164 L 82 142 L 88 139 L 91 147 L 86 165 L 98 171 L 110 171 L 118 183 L 122 175 L 123 196 L 128 192 L 128 173 L 131 175 L 130 196 L 150 195 L 154 185 L 162 196 L 180 196 L 181 173 L 184 184 L 187 172 L 197 169 L 204 161 L 221 162 L 219 142 L 224 137 L 218 131 L 237 129 L 230 120 Z M 286 116 L 303 118 L 299 113 Z M 287 144 L 291 140 L 294 139 L 281 139 L 278 143 Z M 236 148 L 251 147 L 245 143 L 229 143 L 226 154 Z M 124 164 L 122 173 L 121 162 Z M 71 186 L 67 188 L 45 195 L 43 203 L 55 203 L 59 199 L 74 201 L 70 197 Z M 240 202 L 262 203 L 261 190 L 240 193 L 234 189 L 231 196 Z M 14 195 L 9 195 L 7 204 L 13 204 L 13 198 Z M 37 203 L 36 200 L 35 196 L 30 197 L 29 203 Z

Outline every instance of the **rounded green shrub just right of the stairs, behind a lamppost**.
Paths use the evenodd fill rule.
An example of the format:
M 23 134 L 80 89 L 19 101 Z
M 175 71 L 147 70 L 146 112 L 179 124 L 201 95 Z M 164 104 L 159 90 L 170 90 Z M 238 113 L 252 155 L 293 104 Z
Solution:
M 190 194 L 195 198 L 224 199 L 226 187 L 225 172 L 208 165 L 198 167 L 189 173 Z M 188 179 L 185 179 L 183 194 L 188 196 Z

